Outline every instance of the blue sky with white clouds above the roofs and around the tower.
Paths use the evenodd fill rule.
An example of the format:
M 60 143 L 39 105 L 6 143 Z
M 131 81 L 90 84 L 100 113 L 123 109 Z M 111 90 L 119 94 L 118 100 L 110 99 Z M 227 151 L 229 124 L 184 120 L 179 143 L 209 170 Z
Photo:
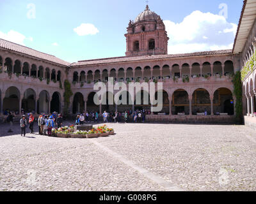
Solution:
M 145 5 L 144 0 L 0 0 L 0 38 L 68 62 L 123 56 L 129 20 Z M 231 48 L 243 1 L 150 0 L 148 5 L 164 20 L 173 54 Z

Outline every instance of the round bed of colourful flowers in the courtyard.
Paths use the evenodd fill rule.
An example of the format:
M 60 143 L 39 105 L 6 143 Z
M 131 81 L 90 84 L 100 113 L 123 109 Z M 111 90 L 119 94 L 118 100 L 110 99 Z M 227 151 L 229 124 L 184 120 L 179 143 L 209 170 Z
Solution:
M 74 126 L 52 129 L 52 134 L 61 138 L 97 138 L 98 136 L 114 135 L 114 129 L 108 126 L 98 126 L 90 131 L 74 131 Z

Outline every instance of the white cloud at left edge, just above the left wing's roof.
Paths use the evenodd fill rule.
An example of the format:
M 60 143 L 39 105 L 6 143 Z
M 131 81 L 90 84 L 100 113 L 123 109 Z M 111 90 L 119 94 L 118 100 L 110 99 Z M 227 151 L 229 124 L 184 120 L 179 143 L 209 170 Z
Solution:
M 0 31 L 0 38 L 12 41 L 13 43 L 17 43 L 20 45 L 25 45 L 24 40 L 26 39 L 33 41 L 33 38 L 26 38 L 26 36 L 24 36 L 23 34 L 13 30 L 10 30 L 8 33 L 3 33 Z

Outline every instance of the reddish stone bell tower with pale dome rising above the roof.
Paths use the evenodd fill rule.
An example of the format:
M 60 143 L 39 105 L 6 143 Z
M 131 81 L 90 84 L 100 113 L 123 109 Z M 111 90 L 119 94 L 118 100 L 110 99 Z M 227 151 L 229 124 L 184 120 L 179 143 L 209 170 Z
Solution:
M 148 5 L 135 22 L 129 22 L 126 38 L 126 56 L 168 54 L 168 36 L 163 20 L 150 11 Z

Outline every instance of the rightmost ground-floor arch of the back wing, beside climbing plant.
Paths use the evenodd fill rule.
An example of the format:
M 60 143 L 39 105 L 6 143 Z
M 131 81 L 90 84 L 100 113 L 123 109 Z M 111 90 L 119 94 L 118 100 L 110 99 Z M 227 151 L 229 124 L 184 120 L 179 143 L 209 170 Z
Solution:
M 228 113 L 228 115 L 234 115 L 234 99 L 230 89 L 226 87 L 216 89 L 214 91 L 213 103 L 214 114 Z

